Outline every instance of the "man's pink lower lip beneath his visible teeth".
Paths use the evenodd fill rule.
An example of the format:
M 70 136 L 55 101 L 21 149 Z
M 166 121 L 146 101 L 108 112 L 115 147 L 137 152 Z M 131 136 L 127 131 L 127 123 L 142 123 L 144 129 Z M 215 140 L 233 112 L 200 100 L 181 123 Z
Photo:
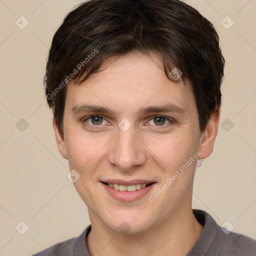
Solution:
M 152 183 L 149 186 L 145 186 L 143 188 L 137 189 L 136 191 L 132 191 L 132 192 L 116 190 L 116 189 L 104 184 L 103 182 L 101 182 L 101 184 L 104 186 L 106 191 L 115 199 L 117 199 L 119 201 L 131 202 L 131 201 L 139 199 L 140 197 L 142 197 L 143 195 L 148 193 L 151 190 L 151 188 L 154 186 L 155 183 Z

